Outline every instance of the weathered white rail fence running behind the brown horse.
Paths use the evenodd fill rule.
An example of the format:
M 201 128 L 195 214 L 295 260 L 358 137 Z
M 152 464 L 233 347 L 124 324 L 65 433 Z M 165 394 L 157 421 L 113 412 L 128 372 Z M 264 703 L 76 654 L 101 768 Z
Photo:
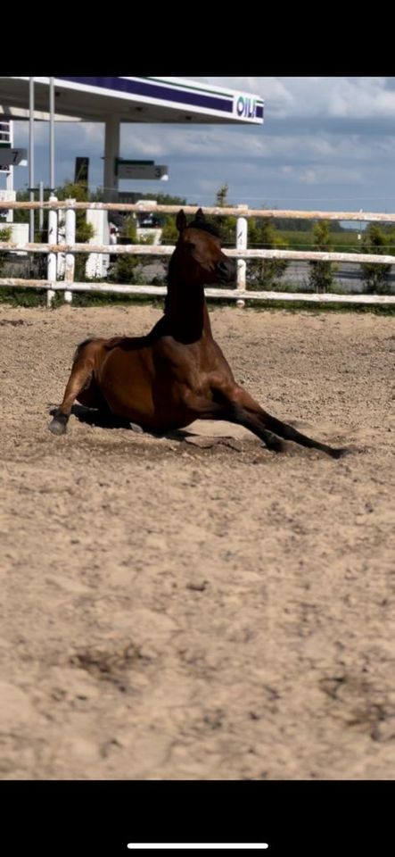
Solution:
M 131 205 L 122 203 L 78 203 L 75 200 L 64 200 L 62 202 L 54 197 L 45 203 L 16 203 L 0 202 L 0 210 L 7 209 L 48 209 L 48 243 L 38 244 L 25 242 L 16 244 L 11 241 L 0 241 L 0 253 L 2 251 L 13 251 L 33 254 L 47 255 L 47 279 L 17 279 L 11 277 L 0 278 L 0 287 L 25 287 L 45 288 L 47 290 L 47 305 L 50 306 L 56 291 L 64 292 L 64 300 L 71 303 L 73 292 L 111 293 L 119 295 L 165 295 L 166 287 L 149 285 L 122 286 L 112 283 L 75 282 L 74 267 L 75 254 L 144 254 L 156 257 L 169 256 L 173 253 L 173 245 L 93 245 L 76 244 L 76 212 L 86 209 L 107 210 L 116 212 L 167 212 L 176 213 L 179 205 L 157 205 L 141 204 Z M 185 213 L 195 213 L 196 205 L 184 205 Z M 60 244 L 58 238 L 59 212 L 65 212 L 65 237 L 64 243 Z M 372 262 L 374 264 L 395 265 L 395 256 L 375 254 L 353 254 L 353 253 L 323 253 L 300 250 L 259 250 L 248 249 L 248 220 L 251 217 L 259 218 L 292 218 L 303 220 L 357 220 L 368 222 L 394 223 L 395 214 L 378 214 L 366 212 L 292 212 L 267 209 L 249 209 L 245 205 L 233 207 L 210 207 L 205 208 L 207 214 L 218 216 L 233 215 L 236 221 L 236 246 L 235 249 L 226 249 L 226 254 L 234 256 L 237 260 L 237 284 L 235 288 L 206 288 L 208 297 L 225 298 L 236 300 L 239 305 L 244 305 L 245 300 L 281 300 L 281 301 L 307 301 L 318 303 L 343 303 L 343 304 L 395 304 L 395 295 L 343 295 L 336 293 L 311 294 L 301 292 L 268 292 L 256 291 L 248 288 L 246 283 L 246 261 L 247 259 L 287 259 L 293 261 L 324 261 L 324 262 L 351 262 L 359 265 L 361 262 Z M 6 224 L 4 224 L 6 225 Z M 58 254 L 65 258 L 64 279 L 57 279 L 59 265 Z

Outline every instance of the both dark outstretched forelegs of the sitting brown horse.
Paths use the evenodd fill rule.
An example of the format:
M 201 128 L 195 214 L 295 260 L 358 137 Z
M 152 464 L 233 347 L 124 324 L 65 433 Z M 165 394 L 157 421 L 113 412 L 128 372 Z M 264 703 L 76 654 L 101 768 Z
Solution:
M 242 387 L 232 387 L 231 389 L 218 390 L 219 399 L 226 401 L 226 416 L 222 419 L 230 422 L 238 423 L 249 428 L 254 435 L 257 435 L 264 441 L 268 449 L 273 449 L 276 452 L 284 450 L 280 437 L 284 440 L 292 440 L 295 444 L 308 446 L 309 448 L 319 449 L 332 458 L 341 458 L 347 453 L 347 450 L 336 448 L 322 444 L 312 437 L 301 434 L 296 428 L 289 426 L 282 420 L 277 420 L 272 417 L 255 402 L 252 396 L 243 390 Z

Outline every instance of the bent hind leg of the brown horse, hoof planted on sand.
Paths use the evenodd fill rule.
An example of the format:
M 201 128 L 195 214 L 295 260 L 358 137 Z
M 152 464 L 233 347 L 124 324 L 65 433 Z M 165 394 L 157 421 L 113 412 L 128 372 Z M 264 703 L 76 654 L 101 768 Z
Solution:
M 70 419 L 71 408 L 76 399 L 87 407 L 97 404 L 98 391 L 94 379 L 95 351 L 101 340 L 87 339 L 78 345 L 74 361 L 63 395 L 62 404 L 48 425 L 53 435 L 62 435 Z

